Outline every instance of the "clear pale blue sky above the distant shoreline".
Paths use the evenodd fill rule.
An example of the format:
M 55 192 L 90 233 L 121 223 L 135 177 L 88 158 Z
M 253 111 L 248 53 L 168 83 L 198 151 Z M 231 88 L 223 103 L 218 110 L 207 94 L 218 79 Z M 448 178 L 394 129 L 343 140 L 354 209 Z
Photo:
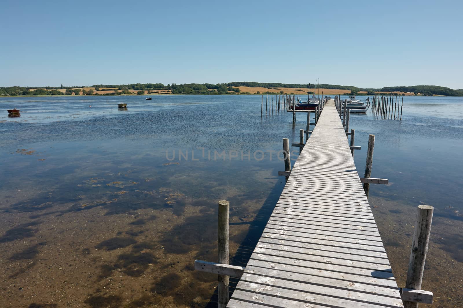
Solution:
M 463 88 L 463 1 L 2 1 L 0 86 Z

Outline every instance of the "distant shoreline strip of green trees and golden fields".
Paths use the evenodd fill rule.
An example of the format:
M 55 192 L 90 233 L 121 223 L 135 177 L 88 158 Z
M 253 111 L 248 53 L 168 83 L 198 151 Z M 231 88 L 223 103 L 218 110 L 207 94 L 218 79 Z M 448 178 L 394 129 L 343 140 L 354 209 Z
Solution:
M 312 85 L 313 86 L 313 85 Z M 453 90 L 447 87 L 442 87 L 438 85 L 413 85 L 413 86 L 393 86 L 393 87 L 384 87 L 381 89 L 372 89 L 372 88 L 358 88 L 351 85 L 329 85 L 329 84 L 320 84 L 317 85 L 323 89 L 339 89 L 350 91 L 350 93 L 356 94 L 360 91 L 366 91 L 367 95 L 375 95 L 375 93 L 390 93 L 390 92 L 401 92 L 401 93 L 415 93 L 423 96 L 432 96 L 432 95 L 443 95 L 443 96 L 463 96 L 463 89 Z M 295 89 L 299 88 L 309 88 L 307 84 L 282 84 L 282 83 L 261 83 L 261 82 L 229 82 L 224 84 L 183 84 L 177 85 L 175 83 L 164 85 L 164 84 L 129 84 L 129 85 L 93 85 L 94 88 L 90 90 L 83 89 L 84 86 L 63 86 L 60 87 L 0 87 L 0 96 L 19 96 L 19 95 L 93 95 L 99 94 L 94 93 L 94 91 L 104 91 L 105 88 L 116 89 L 111 93 L 105 94 L 134 94 L 132 91 L 137 91 L 137 94 L 145 94 L 145 91 L 148 91 L 148 94 L 151 91 L 159 91 L 156 94 L 230 94 L 230 93 L 242 93 L 246 94 L 248 92 L 241 92 L 241 89 L 238 87 L 250 87 L 250 88 L 267 88 L 273 90 L 279 90 L 280 88 L 290 88 Z M 61 90 L 61 91 L 60 91 Z M 64 90 L 64 91 L 63 91 Z M 280 91 L 282 92 L 282 91 Z M 265 93 L 265 92 L 264 92 Z M 270 93 L 270 92 L 267 92 Z M 260 94 L 257 91 L 257 94 Z

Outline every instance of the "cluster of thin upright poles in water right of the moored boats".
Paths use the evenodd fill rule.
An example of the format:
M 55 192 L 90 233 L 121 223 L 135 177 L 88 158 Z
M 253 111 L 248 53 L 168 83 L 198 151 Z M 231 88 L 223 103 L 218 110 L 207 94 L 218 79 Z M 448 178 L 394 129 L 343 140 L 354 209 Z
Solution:
M 400 97 L 397 95 L 379 96 L 375 95 L 371 101 L 367 98 L 367 103 L 371 104 L 373 114 L 380 119 L 402 120 L 402 109 L 404 98 L 400 103 Z

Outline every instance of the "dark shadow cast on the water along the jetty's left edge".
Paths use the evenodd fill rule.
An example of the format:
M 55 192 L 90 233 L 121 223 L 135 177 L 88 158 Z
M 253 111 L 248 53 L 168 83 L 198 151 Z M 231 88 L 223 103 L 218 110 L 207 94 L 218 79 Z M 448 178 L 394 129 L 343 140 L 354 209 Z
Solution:
M 280 198 L 283 187 L 285 184 L 281 181 L 276 182 L 275 186 L 270 191 L 267 199 L 265 199 L 262 207 L 257 212 L 256 217 L 249 223 L 249 231 L 247 232 L 244 240 L 239 245 L 235 256 L 230 260 L 231 265 L 236 266 L 246 266 L 248 263 L 251 254 L 256 248 L 257 242 L 261 237 L 267 222 L 269 221 L 270 216 L 275 208 L 276 202 Z M 231 225 L 242 224 L 242 223 L 230 223 Z M 230 297 L 233 294 L 237 284 L 239 282 L 238 278 L 230 277 Z M 217 307 L 218 305 L 218 290 L 214 290 L 214 294 L 210 298 L 210 302 L 207 304 L 207 308 Z

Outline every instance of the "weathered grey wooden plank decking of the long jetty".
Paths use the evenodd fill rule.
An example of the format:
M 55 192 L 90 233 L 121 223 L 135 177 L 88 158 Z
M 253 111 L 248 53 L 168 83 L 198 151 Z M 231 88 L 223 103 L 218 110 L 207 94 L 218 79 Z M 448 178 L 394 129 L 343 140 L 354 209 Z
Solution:
M 332 100 L 227 307 L 403 307 Z

